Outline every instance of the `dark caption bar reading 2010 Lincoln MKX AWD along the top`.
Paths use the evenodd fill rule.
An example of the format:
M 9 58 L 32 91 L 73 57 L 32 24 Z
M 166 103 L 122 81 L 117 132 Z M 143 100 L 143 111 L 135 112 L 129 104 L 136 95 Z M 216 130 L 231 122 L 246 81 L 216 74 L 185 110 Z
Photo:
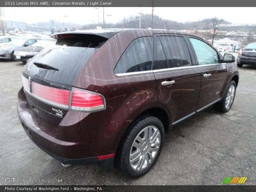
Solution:
M 1 0 L 2 7 L 254 7 L 252 0 Z M 216 9 L 218 12 L 218 9 Z M 188 15 L 191 13 L 187 13 Z

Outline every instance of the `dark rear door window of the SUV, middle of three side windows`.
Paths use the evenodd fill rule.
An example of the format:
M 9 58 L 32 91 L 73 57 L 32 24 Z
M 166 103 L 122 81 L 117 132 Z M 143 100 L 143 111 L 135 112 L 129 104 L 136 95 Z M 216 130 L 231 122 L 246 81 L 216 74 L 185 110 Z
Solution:
M 191 66 L 191 59 L 184 37 L 159 36 L 157 43 L 157 62 L 154 69 Z M 163 51 L 161 50 L 161 46 Z M 164 61 L 164 55 L 167 62 Z M 159 59 L 160 58 L 160 59 Z

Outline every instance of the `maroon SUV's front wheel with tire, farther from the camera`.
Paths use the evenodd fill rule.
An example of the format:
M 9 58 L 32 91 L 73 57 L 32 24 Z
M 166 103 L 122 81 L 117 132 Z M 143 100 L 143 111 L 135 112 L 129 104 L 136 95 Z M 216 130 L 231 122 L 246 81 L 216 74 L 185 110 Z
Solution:
M 231 80 L 228 87 L 224 93 L 222 100 L 213 105 L 214 109 L 220 113 L 227 113 L 234 102 L 236 95 L 236 82 Z

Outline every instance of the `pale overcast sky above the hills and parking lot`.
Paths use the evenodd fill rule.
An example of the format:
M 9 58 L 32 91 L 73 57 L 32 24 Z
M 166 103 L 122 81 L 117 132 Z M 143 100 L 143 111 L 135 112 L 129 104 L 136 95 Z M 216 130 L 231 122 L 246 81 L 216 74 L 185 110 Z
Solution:
M 151 14 L 152 7 L 105 7 L 105 22 L 115 23 L 138 12 Z M 100 7 L 100 22 L 103 9 Z M 98 23 L 98 11 L 93 7 L 4 7 L 6 20 L 36 23 L 59 20 L 78 24 Z M 107 16 L 112 15 L 112 16 Z M 256 24 L 255 7 L 154 7 L 154 15 L 163 19 L 186 22 L 219 17 L 233 24 Z

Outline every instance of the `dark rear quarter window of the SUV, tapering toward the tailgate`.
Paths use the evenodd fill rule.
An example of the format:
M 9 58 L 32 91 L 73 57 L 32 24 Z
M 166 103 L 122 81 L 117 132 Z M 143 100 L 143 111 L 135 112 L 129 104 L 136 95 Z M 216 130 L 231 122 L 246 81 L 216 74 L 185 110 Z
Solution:
M 148 71 L 152 67 L 153 37 L 135 39 L 118 61 L 115 74 Z

